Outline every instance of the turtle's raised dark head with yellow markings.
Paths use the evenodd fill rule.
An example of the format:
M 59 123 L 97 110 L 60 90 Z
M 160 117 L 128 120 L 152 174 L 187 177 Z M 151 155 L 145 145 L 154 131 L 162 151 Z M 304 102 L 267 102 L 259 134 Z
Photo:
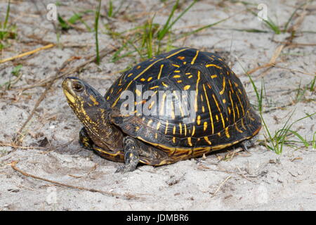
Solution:
M 100 115 L 108 113 L 109 103 L 96 89 L 77 77 L 67 77 L 62 82 L 67 102 L 86 127 L 95 124 Z

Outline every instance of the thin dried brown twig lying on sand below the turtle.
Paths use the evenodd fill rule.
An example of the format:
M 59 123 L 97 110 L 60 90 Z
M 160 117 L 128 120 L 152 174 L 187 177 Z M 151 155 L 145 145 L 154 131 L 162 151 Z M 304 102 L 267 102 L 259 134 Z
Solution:
M 97 189 L 93 189 L 93 188 L 84 188 L 84 187 L 73 186 L 73 185 L 69 185 L 69 184 L 63 184 L 63 183 L 60 183 L 58 181 L 52 181 L 52 180 L 49 180 L 49 179 L 46 179 L 46 178 L 43 178 L 43 177 L 40 177 L 40 176 L 35 176 L 35 175 L 32 175 L 32 174 L 28 174 L 27 172 L 22 171 L 22 169 L 19 169 L 18 167 L 16 167 L 17 164 L 18 164 L 18 161 L 13 161 L 13 162 L 11 162 L 11 167 L 12 167 L 12 169 L 14 169 L 15 171 L 19 172 L 20 174 L 23 174 L 24 176 L 29 176 L 29 177 L 32 177 L 34 179 L 38 179 L 38 180 L 41 180 L 41 181 L 46 181 L 48 183 L 55 184 L 55 185 L 58 185 L 58 186 L 64 186 L 64 187 L 67 187 L 67 188 L 78 189 L 78 190 L 81 190 L 81 191 L 98 192 L 98 193 L 102 193 L 103 195 L 110 195 L 112 197 L 125 198 L 125 199 L 128 199 L 128 200 L 129 199 L 140 199 L 140 197 L 138 197 L 136 195 L 119 194 L 119 193 L 113 193 L 113 192 L 110 192 L 110 191 L 101 191 L 101 190 L 97 190 Z

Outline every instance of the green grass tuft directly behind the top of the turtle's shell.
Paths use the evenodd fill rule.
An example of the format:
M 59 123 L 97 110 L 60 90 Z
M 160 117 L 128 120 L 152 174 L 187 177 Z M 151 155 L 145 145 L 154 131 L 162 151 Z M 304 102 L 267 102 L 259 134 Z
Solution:
M 143 25 L 138 25 L 132 29 L 124 32 L 115 32 L 114 28 L 107 25 L 107 34 L 113 39 L 119 41 L 121 48 L 118 49 L 112 57 L 112 62 L 117 62 L 124 57 L 134 58 L 135 62 L 137 56 L 140 60 L 152 58 L 152 56 L 158 55 L 159 53 L 171 51 L 176 48 L 173 45 L 178 39 L 188 37 L 192 34 L 196 34 L 202 30 L 218 25 L 229 18 L 225 18 L 216 23 L 199 27 L 195 30 L 184 32 L 182 34 L 175 34 L 173 27 L 176 23 L 183 18 L 183 15 L 197 3 L 197 0 L 190 1 L 186 5 L 183 3 L 183 9 L 180 9 L 180 1 L 177 0 L 171 8 L 168 18 L 162 24 L 155 23 L 155 15 L 147 19 Z M 166 3 L 164 3 L 166 4 Z M 109 8 L 109 7 L 108 7 Z

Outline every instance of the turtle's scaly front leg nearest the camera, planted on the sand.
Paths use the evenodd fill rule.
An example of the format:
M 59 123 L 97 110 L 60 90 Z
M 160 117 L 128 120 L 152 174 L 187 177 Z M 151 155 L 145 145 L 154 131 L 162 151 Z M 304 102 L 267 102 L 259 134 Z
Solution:
M 121 173 L 132 172 L 136 169 L 139 158 L 139 146 L 136 140 L 130 136 L 126 136 L 123 140 L 124 144 L 124 161 L 125 165 L 119 167 L 116 171 Z

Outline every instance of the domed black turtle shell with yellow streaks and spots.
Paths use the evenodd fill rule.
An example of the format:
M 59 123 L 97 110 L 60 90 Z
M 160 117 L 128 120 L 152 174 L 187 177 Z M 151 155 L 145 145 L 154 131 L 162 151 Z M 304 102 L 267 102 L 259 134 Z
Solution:
M 166 150 L 201 155 L 199 150 L 231 146 L 261 129 L 239 78 L 222 58 L 197 49 L 139 63 L 105 98 L 113 109 L 110 119 L 125 134 Z M 122 113 L 126 108 L 129 114 Z

